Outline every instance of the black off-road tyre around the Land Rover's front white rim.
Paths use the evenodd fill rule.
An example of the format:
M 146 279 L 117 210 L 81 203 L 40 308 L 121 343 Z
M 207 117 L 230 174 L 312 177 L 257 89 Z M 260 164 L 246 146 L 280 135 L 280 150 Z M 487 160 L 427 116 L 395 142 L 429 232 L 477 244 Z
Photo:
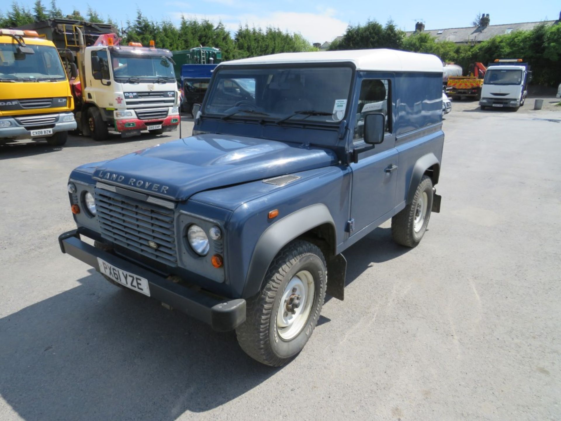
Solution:
M 275 256 L 265 275 L 265 286 L 246 302 L 246 321 L 236 329 L 245 353 L 260 363 L 279 367 L 292 360 L 309 340 L 325 299 L 327 269 L 318 246 L 295 240 Z M 283 340 L 277 330 L 277 312 L 283 292 L 296 273 L 306 270 L 314 279 L 314 299 L 302 330 L 291 340 Z

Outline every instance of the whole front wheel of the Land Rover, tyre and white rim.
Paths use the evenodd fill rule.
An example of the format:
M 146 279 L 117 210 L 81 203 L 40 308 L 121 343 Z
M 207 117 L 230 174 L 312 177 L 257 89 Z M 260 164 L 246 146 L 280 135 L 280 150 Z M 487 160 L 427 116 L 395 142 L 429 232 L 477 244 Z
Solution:
M 246 321 L 236 329 L 245 353 L 278 367 L 309 340 L 325 298 L 327 269 L 318 246 L 295 240 L 279 251 L 265 275 L 265 286 L 247 300 Z

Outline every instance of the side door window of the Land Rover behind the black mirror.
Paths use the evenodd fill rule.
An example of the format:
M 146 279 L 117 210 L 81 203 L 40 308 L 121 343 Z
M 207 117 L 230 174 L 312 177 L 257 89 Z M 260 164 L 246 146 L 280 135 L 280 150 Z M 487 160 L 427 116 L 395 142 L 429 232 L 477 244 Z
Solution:
M 360 85 L 358 108 L 353 132 L 353 142 L 364 138 L 364 116 L 367 113 L 383 113 L 385 116 L 385 131 L 391 132 L 390 112 L 390 81 L 388 79 L 365 79 Z

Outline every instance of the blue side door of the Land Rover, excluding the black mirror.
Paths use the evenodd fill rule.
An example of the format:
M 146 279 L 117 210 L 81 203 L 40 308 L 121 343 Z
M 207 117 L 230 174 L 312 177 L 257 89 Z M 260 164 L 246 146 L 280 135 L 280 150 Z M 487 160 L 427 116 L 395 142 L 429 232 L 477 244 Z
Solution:
M 392 216 L 396 205 L 398 152 L 393 130 L 392 86 L 393 78 L 364 77 L 360 83 L 358 99 L 351 108 L 355 113 L 353 147 L 364 149 L 358 153 L 358 162 L 351 163 L 351 226 L 350 236 L 378 221 Z M 384 141 L 378 145 L 364 142 L 364 116 L 369 112 L 385 115 Z M 373 227 L 374 228 L 374 227 Z

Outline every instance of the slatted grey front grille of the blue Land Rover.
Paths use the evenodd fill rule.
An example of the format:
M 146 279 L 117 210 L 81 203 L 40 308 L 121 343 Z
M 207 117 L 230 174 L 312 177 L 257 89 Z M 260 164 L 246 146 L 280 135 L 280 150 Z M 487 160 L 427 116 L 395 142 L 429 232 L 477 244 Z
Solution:
M 95 189 L 102 237 L 168 266 L 177 266 L 173 209 Z M 151 248 L 150 241 L 158 244 Z

